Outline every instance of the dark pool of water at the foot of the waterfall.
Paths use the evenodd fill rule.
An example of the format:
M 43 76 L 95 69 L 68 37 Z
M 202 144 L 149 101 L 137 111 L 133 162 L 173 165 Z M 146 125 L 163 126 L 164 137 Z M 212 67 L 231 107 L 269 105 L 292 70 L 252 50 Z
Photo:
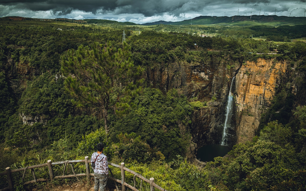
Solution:
M 224 145 L 204 145 L 197 151 L 196 158 L 203 162 L 214 161 L 217 156 L 225 156 L 232 148 Z

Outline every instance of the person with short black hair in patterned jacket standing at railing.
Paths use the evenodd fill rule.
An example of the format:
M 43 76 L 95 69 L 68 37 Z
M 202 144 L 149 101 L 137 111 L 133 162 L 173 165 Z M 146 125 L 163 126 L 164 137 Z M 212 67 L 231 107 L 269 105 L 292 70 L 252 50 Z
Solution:
M 97 152 L 91 155 L 91 167 L 94 169 L 95 175 L 95 191 L 104 191 L 106 180 L 108 176 L 108 162 L 107 157 L 102 153 L 104 149 L 103 143 L 97 144 Z

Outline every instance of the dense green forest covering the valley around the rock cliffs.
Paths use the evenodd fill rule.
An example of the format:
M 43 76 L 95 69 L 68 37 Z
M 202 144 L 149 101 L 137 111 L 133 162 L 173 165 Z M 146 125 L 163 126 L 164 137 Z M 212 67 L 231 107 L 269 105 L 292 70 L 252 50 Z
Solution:
M 1 20 L 2 170 L 48 159 L 84 158 L 95 150 L 92 145 L 103 141 L 110 161 L 124 161 L 130 169 L 156 177 L 156 183 L 167 190 L 306 190 L 306 43 L 289 41 L 306 37 L 306 25 L 155 25 L 142 27 L 138 33 L 126 26 L 131 23 L 87 22 Z M 122 43 L 123 30 L 130 31 L 126 43 Z M 290 30 L 294 35 L 288 35 Z M 205 32 L 215 35 L 199 36 Z M 252 35 L 267 40 L 255 40 Z M 77 89 L 72 81 L 67 82 L 68 74 L 77 72 L 65 70 L 66 62 L 84 64 L 91 61 L 88 57 L 95 59 L 98 47 L 102 52 L 114 50 L 114 55 L 122 51 L 130 59 L 129 72 L 120 71 L 123 75 L 107 86 L 106 106 L 94 101 L 100 87 L 88 83 L 89 89 Z M 275 49 L 278 54 L 256 54 L 275 53 Z M 162 86 L 162 79 L 150 72 L 224 57 L 229 69 L 234 62 L 242 65 L 258 58 L 286 61 L 288 68 L 295 68 L 286 80 L 296 81 L 299 94 L 292 94 L 286 83 L 280 84 L 253 140 L 234 145 L 226 157 L 199 167 L 185 158 L 192 141 L 192 117 L 217 98 L 182 94 L 179 85 Z M 97 73 L 95 82 L 101 76 Z M 82 101 L 80 91 L 93 94 Z M 107 116 L 101 112 L 104 106 Z M 1 180 L 0 187 L 4 184 Z

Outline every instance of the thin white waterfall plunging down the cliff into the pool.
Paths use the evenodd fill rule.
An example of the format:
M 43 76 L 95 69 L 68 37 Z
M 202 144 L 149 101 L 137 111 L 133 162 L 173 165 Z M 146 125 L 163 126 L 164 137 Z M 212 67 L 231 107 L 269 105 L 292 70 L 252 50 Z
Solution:
M 228 129 L 230 125 L 230 119 L 233 113 L 233 94 L 232 94 L 232 86 L 234 82 L 234 78 L 232 79 L 232 83 L 230 85 L 230 93 L 227 98 L 227 104 L 226 104 L 226 114 L 225 114 L 225 122 L 224 122 L 224 127 L 223 127 L 223 135 L 222 135 L 222 142 L 221 145 L 227 145 L 227 140 L 228 140 Z

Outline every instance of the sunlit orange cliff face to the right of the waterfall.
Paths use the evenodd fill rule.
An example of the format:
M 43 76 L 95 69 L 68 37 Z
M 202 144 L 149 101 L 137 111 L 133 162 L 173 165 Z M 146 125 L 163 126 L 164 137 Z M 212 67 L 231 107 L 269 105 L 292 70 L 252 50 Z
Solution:
M 274 59 L 246 62 L 236 75 L 237 142 L 252 140 L 260 116 L 271 105 L 287 64 Z

